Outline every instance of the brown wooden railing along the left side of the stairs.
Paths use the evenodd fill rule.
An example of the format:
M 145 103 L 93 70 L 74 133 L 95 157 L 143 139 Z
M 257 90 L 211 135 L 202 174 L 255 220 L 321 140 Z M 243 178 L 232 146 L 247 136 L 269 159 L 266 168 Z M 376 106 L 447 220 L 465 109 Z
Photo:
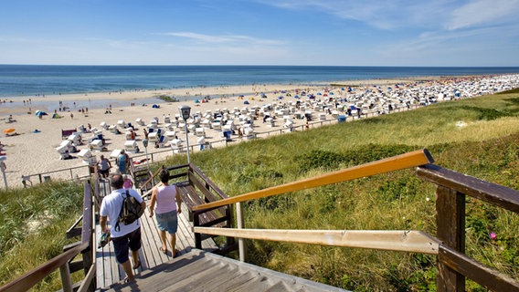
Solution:
M 92 187 L 90 183 L 84 184 L 83 214 L 81 226 L 81 241 L 77 245 L 73 245 L 63 254 L 58 255 L 41 266 L 37 266 L 25 275 L 16 278 L 16 280 L 0 287 L 0 292 L 19 292 L 26 291 L 43 280 L 53 271 L 59 269 L 61 275 L 61 284 L 63 291 L 94 291 L 95 290 L 95 273 L 96 267 L 94 263 L 95 246 L 93 242 L 93 203 L 92 203 Z M 78 222 L 77 222 L 78 223 Z M 76 223 L 76 224 L 77 224 Z M 78 290 L 73 289 L 70 276 L 70 263 L 77 255 L 82 254 L 82 263 L 79 268 L 83 268 L 85 278 L 79 286 Z

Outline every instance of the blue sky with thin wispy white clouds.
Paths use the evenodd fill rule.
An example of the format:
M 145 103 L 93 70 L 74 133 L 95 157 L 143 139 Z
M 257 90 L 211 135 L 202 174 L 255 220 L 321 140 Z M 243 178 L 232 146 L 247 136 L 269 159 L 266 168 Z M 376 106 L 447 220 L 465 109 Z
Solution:
M 0 64 L 519 66 L 519 0 L 12 0 Z

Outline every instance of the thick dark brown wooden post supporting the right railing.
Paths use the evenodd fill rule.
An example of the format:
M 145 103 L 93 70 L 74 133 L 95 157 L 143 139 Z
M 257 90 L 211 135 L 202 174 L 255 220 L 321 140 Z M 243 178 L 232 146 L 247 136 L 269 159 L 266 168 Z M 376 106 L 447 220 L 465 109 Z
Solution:
M 437 237 L 444 245 L 465 253 L 465 195 L 439 185 L 436 201 Z M 465 277 L 438 262 L 438 292 L 464 291 Z

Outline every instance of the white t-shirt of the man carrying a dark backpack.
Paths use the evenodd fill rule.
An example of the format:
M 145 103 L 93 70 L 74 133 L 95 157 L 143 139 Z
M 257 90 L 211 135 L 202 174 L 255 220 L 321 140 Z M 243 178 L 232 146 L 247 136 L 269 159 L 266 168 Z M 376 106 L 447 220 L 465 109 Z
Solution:
M 137 191 L 128 190 L 129 194 L 134 197 L 137 202 L 143 203 L 143 198 Z M 122 200 L 126 197 L 126 190 L 119 189 L 112 191 L 109 195 L 102 199 L 101 203 L 101 216 L 108 216 L 109 224 L 111 225 L 111 237 L 121 237 L 122 235 L 128 235 L 132 231 L 138 229 L 141 226 L 140 219 L 135 220 L 132 224 L 124 224 L 119 223 L 119 227 L 121 228 L 119 231 L 115 230 L 115 224 L 119 219 L 119 214 L 121 213 Z

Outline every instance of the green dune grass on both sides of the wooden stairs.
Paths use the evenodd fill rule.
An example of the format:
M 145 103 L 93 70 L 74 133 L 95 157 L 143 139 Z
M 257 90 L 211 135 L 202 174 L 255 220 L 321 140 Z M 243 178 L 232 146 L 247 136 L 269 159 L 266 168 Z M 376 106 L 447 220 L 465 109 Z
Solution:
M 518 101 L 519 93 L 513 92 L 445 102 L 196 152 L 192 162 L 220 189 L 234 196 L 428 148 L 440 166 L 519 189 Z M 185 163 L 185 155 L 175 155 L 160 164 L 181 163 Z M 66 242 L 65 230 L 77 218 L 66 217 L 69 223 L 59 223 L 56 230 L 48 227 L 53 237 L 46 237 L 47 232 L 41 237 L 36 233 L 27 235 L 25 225 L 29 218 L 40 218 L 42 214 L 47 218 L 48 213 L 55 213 L 53 203 L 43 205 L 37 198 L 58 192 L 58 197 L 47 200 L 58 203 L 73 193 L 65 191 L 68 188 L 81 191 L 68 184 L 45 186 L 41 190 L 10 191 L 7 195 L 0 192 L 1 224 L 5 225 L 2 232 L 8 231 L 8 237 L 2 234 L 1 238 L 10 238 L 8 243 L 2 241 L 0 251 L 0 279 L 5 282 L 45 258 L 58 255 Z M 69 206 L 70 210 L 77 209 L 79 214 L 81 199 L 77 199 L 74 208 Z M 436 234 L 435 186 L 418 179 L 412 169 L 263 198 L 246 203 L 245 210 L 247 228 L 410 229 Z M 60 221 L 65 219 L 49 225 Z M 490 239 L 491 232 L 497 235 L 496 240 Z M 50 243 L 54 238 L 61 241 Z M 34 248 L 35 244 L 39 246 Z M 335 287 L 355 291 L 436 289 L 436 258 L 432 255 L 252 240 L 247 245 L 250 263 Z M 31 254 L 36 251 L 43 254 L 38 261 L 18 265 L 19 261 L 37 257 Z M 467 253 L 518 279 L 518 215 L 469 199 Z M 46 282 L 43 286 L 41 289 L 45 290 L 51 284 Z M 53 289 L 57 287 L 48 288 Z M 471 281 L 467 290 L 484 291 Z

